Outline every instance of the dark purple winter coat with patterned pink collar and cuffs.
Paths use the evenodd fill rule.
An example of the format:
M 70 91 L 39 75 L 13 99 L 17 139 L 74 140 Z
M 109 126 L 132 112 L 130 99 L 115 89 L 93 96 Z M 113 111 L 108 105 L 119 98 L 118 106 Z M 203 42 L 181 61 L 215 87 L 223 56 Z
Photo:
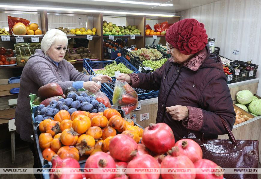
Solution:
M 208 47 L 198 52 L 181 67 L 172 58 L 153 73 L 131 74 L 132 86 L 159 90 L 156 123 L 168 124 L 176 141 L 189 133 L 197 138 L 217 138 L 226 134 L 223 117 L 232 130 L 235 111 L 220 58 Z M 173 120 L 166 107 L 187 106 L 189 116 Z

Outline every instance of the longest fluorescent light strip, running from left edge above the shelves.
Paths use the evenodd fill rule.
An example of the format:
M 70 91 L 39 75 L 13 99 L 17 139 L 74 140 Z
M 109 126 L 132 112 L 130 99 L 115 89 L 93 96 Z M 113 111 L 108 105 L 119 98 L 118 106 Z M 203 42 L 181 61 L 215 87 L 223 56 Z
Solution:
M 16 5 L 1 5 L 1 8 L 10 9 L 24 9 L 24 10 L 53 10 L 53 11 L 75 11 L 75 12 L 94 12 L 94 13 L 108 13 L 108 14 L 130 14 L 130 15 L 142 15 L 142 16 L 158 16 L 158 17 L 174 17 L 169 14 L 151 14 L 151 13 L 136 13 L 136 12 L 119 12 L 119 11 L 103 11 L 103 10 L 91 10 L 91 9 L 69 9 L 69 8 L 51 8 L 51 7 L 33 7 L 33 6 L 16 6 Z

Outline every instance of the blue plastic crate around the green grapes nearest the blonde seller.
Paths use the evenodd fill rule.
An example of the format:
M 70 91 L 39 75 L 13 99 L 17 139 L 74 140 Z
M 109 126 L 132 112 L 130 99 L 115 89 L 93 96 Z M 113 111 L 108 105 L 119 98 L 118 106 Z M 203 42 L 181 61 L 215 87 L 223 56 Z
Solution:
M 105 61 L 97 61 L 97 62 L 93 62 L 90 59 L 83 59 L 83 67 L 87 70 L 87 72 L 90 75 L 95 75 L 94 69 L 104 68 L 106 65 L 112 64 L 113 61 L 116 61 L 117 64 L 123 63 L 127 68 L 132 70 L 133 73 L 137 73 L 137 71 L 138 71 L 137 68 L 135 68 L 133 65 L 131 65 L 131 63 L 122 56 L 119 56 L 115 60 L 105 60 Z M 115 76 L 112 78 L 115 79 Z

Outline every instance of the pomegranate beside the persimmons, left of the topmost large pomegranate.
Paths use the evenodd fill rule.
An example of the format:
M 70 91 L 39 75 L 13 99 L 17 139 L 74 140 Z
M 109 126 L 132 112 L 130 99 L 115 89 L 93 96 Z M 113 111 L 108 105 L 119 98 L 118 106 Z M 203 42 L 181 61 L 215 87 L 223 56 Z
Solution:
M 110 141 L 109 151 L 113 158 L 128 162 L 136 155 L 138 145 L 127 135 L 118 134 Z

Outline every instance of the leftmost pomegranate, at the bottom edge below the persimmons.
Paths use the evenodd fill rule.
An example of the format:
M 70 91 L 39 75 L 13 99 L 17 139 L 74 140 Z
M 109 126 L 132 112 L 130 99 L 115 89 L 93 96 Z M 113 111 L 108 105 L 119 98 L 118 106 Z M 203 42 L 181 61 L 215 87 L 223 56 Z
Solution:
M 76 159 L 66 158 L 61 159 L 58 155 L 52 157 L 52 168 L 80 168 L 80 164 Z M 64 173 L 52 173 L 50 179 L 82 179 L 81 173 L 70 173 L 69 171 Z

